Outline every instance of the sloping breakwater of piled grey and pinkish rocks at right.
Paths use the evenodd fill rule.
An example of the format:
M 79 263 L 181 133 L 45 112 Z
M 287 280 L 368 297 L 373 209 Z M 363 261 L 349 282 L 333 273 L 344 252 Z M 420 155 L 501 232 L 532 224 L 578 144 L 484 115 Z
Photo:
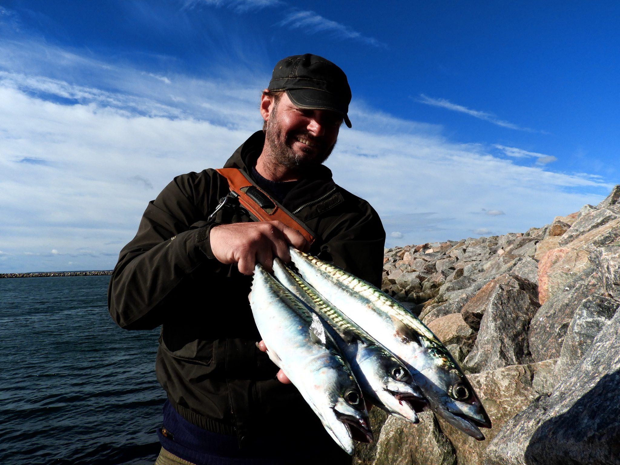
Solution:
M 524 233 L 387 249 L 383 290 L 445 343 L 492 420 L 373 409 L 364 465 L 620 464 L 620 185 Z

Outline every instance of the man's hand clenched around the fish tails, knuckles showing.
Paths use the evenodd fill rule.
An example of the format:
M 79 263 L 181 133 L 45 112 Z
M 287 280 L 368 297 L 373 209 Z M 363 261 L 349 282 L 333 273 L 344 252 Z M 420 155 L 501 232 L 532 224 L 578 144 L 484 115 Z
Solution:
M 220 224 L 211 229 L 209 237 L 215 258 L 226 265 L 237 263 L 244 275 L 254 274 L 257 262 L 271 271 L 274 257 L 290 262 L 288 246 L 303 251 L 309 248 L 299 231 L 281 221 Z

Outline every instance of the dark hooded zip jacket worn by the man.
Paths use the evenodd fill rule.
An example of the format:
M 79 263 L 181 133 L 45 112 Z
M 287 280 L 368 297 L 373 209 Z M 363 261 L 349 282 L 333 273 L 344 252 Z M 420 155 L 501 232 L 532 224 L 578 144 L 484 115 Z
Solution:
M 264 135 L 252 135 L 226 162 L 251 172 Z M 315 415 L 292 384 L 255 347 L 260 335 L 247 296 L 252 277 L 211 254 L 214 223 L 251 221 L 240 208 L 208 217 L 229 192 L 213 169 L 175 177 L 149 202 L 138 233 L 120 252 L 108 308 L 125 329 L 161 325 L 156 373 L 168 399 L 189 422 L 242 438 L 280 424 L 291 411 Z M 375 285 L 381 283 L 385 232 L 376 211 L 318 167 L 281 204 L 317 235 L 311 253 Z M 314 418 L 316 419 L 316 418 Z

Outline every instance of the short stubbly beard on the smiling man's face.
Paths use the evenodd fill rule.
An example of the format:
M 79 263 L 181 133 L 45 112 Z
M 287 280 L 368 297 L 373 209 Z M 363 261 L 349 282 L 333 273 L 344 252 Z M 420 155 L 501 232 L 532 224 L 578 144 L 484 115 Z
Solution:
M 320 143 L 320 141 L 317 141 L 308 133 L 286 135 L 276 118 L 277 108 L 278 105 L 275 105 L 265 127 L 265 143 L 270 150 L 271 160 L 275 164 L 295 172 L 299 172 L 304 168 L 319 166 L 327 160 L 336 144 L 334 143 L 330 147 L 319 146 L 319 150 L 316 147 L 307 146 L 305 149 L 301 149 L 302 153 L 297 153 L 290 146 L 289 139 L 296 140 L 296 137 L 300 137 L 312 143 Z

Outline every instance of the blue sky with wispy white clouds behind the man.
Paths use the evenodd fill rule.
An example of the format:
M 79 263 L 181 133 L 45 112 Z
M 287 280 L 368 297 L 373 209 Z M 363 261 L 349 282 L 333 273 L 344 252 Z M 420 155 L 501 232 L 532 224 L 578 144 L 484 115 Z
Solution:
M 525 232 L 620 182 L 613 1 L 0 0 L 0 272 L 110 269 L 172 177 L 261 125 L 281 58 L 339 64 L 327 165 L 387 246 Z

